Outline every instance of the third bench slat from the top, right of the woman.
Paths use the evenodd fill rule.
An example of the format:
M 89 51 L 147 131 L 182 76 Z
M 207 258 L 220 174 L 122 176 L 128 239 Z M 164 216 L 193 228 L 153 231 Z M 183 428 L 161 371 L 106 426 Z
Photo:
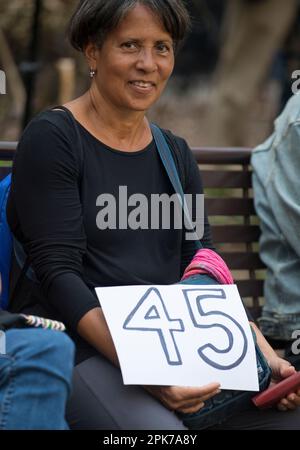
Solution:
M 205 198 L 209 216 L 251 216 L 255 215 L 252 198 Z

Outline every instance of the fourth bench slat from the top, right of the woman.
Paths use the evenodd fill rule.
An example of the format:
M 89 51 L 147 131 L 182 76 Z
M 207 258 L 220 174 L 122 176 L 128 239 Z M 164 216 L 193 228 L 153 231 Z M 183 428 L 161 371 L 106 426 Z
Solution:
M 257 242 L 260 236 L 258 225 L 213 225 L 211 228 L 216 244 Z

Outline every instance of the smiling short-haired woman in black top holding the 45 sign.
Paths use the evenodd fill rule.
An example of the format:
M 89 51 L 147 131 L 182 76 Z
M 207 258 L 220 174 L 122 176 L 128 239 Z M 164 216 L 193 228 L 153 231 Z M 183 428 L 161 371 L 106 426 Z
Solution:
M 40 282 L 26 310 L 42 309 L 73 331 L 77 366 L 68 419 L 74 429 L 185 429 L 174 411 L 195 412 L 218 393 L 218 383 L 123 386 L 93 291 L 176 283 L 193 258 L 194 245 L 182 239 L 182 230 L 100 229 L 97 221 L 101 193 L 117 200 L 120 186 L 147 198 L 173 193 L 145 113 L 171 76 L 188 24 L 180 0 L 81 1 L 70 38 L 85 54 L 91 87 L 65 105 L 79 136 L 65 111 L 48 111 L 31 122 L 19 145 L 9 221 Z M 202 193 L 187 144 L 172 140 L 185 166 L 185 193 Z M 202 244 L 212 246 L 207 221 Z M 284 363 L 263 345 L 281 370 Z M 284 401 L 295 407 L 296 400 Z

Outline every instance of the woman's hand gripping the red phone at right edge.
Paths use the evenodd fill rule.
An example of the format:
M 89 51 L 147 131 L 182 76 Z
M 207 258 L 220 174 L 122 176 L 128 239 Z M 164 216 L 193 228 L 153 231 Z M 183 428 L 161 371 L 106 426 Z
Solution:
M 272 369 L 272 382 L 278 383 L 284 378 L 293 375 L 296 372 L 295 367 L 293 367 L 285 359 L 279 358 L 279 356 L 273 356 L 268 361 Z M 277 405 L 279 411 L 288 411 L 296 409 L 300 406 L 300 389 L 296 390 L 286 397 L 282 398 Z

